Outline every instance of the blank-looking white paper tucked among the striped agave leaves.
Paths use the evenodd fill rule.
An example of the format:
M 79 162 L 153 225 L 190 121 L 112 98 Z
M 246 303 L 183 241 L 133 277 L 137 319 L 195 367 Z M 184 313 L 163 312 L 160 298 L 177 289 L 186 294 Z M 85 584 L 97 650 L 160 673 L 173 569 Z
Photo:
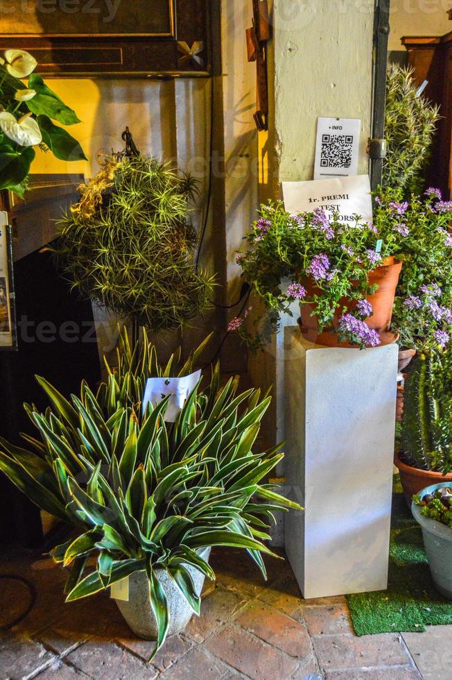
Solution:
M 166 407 L 165 420 L 167 423 L 175 423 L 186 399 L 200 381 L 200 377 L 201 371 L 184 375 L 184 377 L 150 377 L 144 391 L 143 413 L 149 402 L 157 406 L 171 394 L 171 399 Z

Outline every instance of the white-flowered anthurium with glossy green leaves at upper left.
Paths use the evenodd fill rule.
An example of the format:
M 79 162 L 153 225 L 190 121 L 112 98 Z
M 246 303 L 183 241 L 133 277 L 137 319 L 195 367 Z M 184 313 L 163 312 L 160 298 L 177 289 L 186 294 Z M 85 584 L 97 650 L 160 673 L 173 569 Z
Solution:
M 76 139 L 54 122 L 80 123 L 76 113 L 33 72 L 36 67 L 35 58 L 21 49 L 7 49 L 0 57 L 0 189 L 21 197 L 34 147 L 51 151 L 60 160 L 86 160 Z

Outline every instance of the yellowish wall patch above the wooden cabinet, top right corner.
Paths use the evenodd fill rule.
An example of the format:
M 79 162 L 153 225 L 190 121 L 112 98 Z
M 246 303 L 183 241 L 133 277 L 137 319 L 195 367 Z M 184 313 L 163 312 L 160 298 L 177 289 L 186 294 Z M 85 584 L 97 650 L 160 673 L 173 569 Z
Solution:
M 451 0 L 391 0 L 390 50 L 403 50 L 403 35 L 444 35 L 452 31 Z

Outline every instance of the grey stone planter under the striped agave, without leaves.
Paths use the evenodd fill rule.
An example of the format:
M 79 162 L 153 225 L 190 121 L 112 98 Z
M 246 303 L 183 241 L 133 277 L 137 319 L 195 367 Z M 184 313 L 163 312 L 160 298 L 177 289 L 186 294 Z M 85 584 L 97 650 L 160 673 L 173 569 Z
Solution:
M 210 550 L 210 548 L 205 548 L 205 550 L 200 551 L 202 559 L 208 561 Z M 186 568 L 193 579 L 197 595 L 200 595 L 205 576 L 190 565 L 186 565 Z M 193 610 L 166 570 L 159 569 L 155 573 L 164 588 L 166 600 L 168 600 L 170 618 L 168 636 L 171 636 L 184 630 L 193 615 Z M 116 604 L 128 626 L 137 636 L 146 640 L 157 640 L 157 622 L 150 606 L 148 577 L 145 571 L 134 572 L 129 577 L 129 601 L 116 600 Z

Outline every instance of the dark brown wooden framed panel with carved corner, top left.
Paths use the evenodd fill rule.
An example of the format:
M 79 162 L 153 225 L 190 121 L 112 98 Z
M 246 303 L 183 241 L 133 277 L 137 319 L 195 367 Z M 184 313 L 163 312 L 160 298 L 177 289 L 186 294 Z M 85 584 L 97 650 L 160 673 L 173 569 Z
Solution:
M 0 51 L 46 76 L 207 76 L 208 0 L 8 0 Z

